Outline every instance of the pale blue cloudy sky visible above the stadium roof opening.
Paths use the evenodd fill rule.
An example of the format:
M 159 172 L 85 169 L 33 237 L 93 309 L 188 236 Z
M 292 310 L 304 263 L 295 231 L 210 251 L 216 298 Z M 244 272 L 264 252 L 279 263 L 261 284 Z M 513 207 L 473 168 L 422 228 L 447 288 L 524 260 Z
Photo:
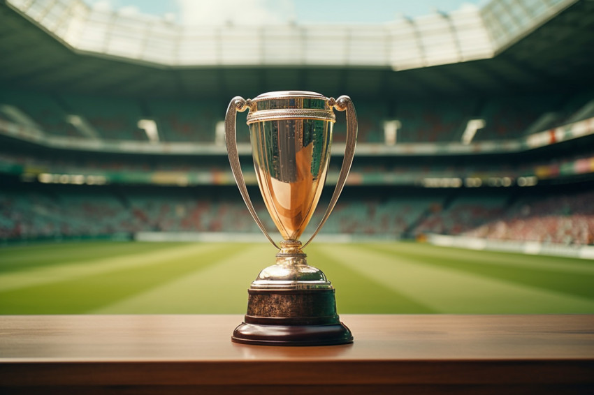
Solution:
M 180 24 L 382 23 L 449 13 L 487 0 L 85 0 L 94 7 L 166 16 Z

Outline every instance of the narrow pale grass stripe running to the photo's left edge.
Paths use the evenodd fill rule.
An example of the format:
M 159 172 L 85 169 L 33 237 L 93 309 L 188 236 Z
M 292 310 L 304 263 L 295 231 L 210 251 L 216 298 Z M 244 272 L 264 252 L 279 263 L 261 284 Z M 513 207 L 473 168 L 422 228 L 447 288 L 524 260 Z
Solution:
M 219 248 L 219 245 L 190 244 L 187 246 L 171 246 L 147 253 L 118 255 L 96 260 L 80 260 L 64 264 L 52 264 L 50 267 L 32 267 L 22 271 L 11 271 L 0 274 L 0 292 L 57 281 L 73 280 L 125 268 L 140 268 L 163 261 L 207 253 L 215 248 Z

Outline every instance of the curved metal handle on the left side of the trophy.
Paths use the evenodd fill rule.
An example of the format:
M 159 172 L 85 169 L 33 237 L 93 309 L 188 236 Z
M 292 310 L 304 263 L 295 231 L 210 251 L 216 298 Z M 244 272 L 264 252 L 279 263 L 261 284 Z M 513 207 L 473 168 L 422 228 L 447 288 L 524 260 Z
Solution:
M 258 214 L 256 214 L 252 200 L 249 200 L 249 193 L 247 193 L 245 179 L 243 179 L 243 173 L 241 172 L 241 166 L 239 164 L 239 154 L 237 151 L 236 117 L 238 111 L 243 112 L 247 110 L 250 105 L 251 100 L 245 100 L 241 96 L 236 96 L 231 99 L 231 103 L 229 103 L 229 107 L 227 107 L 227 113 L 225 115 L 225 143 L 227 146 L 227 155 L 229 156 L 229 163 L 231 163 L 233 177 L 235 178 L 236 184 L 239 187 L 241 197 L 243 198 L 243 201 L 249 210 L 249 214 L 252 214 L 254 221 L 256 221 L 263 234 L 268 237 L 270 243 L 280 250 L 280 247 L 277 246 L 273 238 L 270 237 L 270 234 L 266 232 L 266 228 L 264 228 L 262 221 L 260 221 Z

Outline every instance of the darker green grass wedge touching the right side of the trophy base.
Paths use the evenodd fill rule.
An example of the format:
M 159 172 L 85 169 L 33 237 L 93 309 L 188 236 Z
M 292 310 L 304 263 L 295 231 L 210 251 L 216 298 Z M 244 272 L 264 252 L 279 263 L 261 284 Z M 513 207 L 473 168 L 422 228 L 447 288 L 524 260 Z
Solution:
M 370 278 L 365 270 L 352 269 L 345 262 L 350 257 L 345 257 L 341 250 L 340 245 L 312 244 L 307 247 L 308 262 L 324 271 L 336 289 L 338 313 L 436 313 L 433 308 Z M 366 266 L 365 261 L 358 263 Z

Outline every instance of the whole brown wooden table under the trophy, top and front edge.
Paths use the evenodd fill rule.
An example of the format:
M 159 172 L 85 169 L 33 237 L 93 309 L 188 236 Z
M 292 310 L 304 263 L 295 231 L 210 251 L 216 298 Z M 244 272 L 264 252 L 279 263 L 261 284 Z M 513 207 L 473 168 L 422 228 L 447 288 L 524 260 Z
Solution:
M 594 315 L 342 315 L 352 345 L 231 343 L 239 315 L 0 316 L 0 393 L 594 394 Z

